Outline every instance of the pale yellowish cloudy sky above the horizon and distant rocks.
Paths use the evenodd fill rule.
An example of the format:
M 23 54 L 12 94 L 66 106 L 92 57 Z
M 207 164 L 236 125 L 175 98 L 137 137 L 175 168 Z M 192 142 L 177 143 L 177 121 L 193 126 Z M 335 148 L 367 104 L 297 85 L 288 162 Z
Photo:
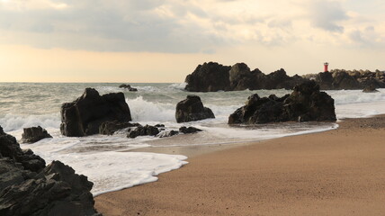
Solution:
M 0 0 L 0 82 L 181 83 L 209 61 L 385 70 L 384 11 L 383 0 Z

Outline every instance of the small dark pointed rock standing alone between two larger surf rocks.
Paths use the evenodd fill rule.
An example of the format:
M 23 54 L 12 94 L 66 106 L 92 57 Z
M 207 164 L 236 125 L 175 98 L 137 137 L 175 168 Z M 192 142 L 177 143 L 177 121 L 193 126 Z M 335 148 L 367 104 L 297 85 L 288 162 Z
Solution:
M 197 95 L 187 95 L 187 98 L 176 104 L 176 122 L 200 121 L 215 118 L 210 108 L 203 107 L 201 98 Z

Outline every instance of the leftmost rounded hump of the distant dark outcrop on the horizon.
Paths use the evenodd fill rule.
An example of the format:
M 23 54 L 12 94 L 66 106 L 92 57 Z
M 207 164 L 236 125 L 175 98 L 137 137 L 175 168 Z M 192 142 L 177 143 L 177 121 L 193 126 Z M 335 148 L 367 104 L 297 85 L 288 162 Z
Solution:
M 195 68 L 191 75 L 186 76 L 185 89 L 190 92 L 217 92 L 229 88 L 228 71 L 230 67 L 216 62 L 204 63 Z

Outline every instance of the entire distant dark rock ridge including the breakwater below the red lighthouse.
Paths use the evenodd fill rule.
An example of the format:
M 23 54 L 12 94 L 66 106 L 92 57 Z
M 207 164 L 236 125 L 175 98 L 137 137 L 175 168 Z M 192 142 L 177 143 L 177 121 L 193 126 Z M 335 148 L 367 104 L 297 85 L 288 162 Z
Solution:
M 382 71 L 332 70 L 306 76 L 287 76 L 284 69 L 265 75 L 258 68 L 250 70 L 245 63 L 232 67 L 216 62 L 199 65 L 186 76 L 185 90 L 190 92 L 240 91 L 245 89 L 292 89 L 295 85 L 315 80 L 322 90 L 363 89 L 372 85 L 385 87 L 385 73 Z

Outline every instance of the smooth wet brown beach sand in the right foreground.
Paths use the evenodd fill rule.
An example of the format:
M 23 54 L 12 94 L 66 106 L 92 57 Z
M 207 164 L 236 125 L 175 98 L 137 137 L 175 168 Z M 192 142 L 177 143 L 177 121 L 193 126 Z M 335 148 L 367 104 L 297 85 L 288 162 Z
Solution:
M 105 216 L 385 215 L 385 116 L 339 124 L 197 150 L 188 165 L 155 183 L 97 196 L 95 207 Z

